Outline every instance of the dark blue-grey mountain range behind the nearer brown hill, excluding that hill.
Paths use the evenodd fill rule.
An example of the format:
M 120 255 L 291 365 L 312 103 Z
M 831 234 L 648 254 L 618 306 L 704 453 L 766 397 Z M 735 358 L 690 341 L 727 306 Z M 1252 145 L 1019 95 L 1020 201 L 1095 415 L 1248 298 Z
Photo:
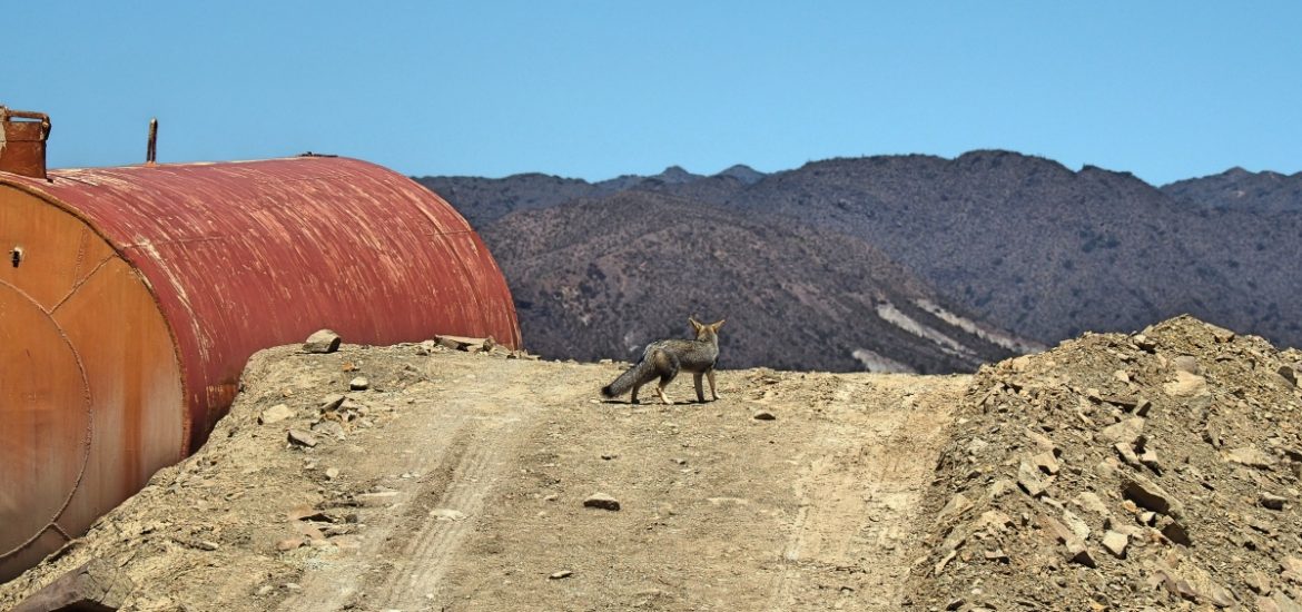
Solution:
M 704 177 L 669 168 L 599 184 L 540 174 L 422 181 L 480 229 L 512 211 L 654 193 L 769 219 L 769 229 L 836 233 L 902 266 L 969 318 L 1046 344 L 1187 313 L 1302 345 L 1302 173 L 1233 169 L 1156 189 L 1129 173 L 1072 171 L 1009 151 L 747 171 Z M 586 210 L 589 232 L 617 233 L 626 223 Z M 512 247 L 493 236 L 495 254 Z M 629 240 L 628 249 L 642 245 Z M 531 279 L 508 276 L 517 294 L 531 290 Z

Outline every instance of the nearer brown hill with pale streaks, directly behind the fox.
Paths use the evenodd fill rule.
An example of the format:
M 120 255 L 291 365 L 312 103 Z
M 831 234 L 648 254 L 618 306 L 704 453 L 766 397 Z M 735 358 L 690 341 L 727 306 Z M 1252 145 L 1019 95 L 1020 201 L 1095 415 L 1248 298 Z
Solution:
M 727 318 L 725 367 L 973 370 L 1012 339 L 867 243 L 648 191 L 508 215 L 482 228 L 530 350 L 635 361 Z

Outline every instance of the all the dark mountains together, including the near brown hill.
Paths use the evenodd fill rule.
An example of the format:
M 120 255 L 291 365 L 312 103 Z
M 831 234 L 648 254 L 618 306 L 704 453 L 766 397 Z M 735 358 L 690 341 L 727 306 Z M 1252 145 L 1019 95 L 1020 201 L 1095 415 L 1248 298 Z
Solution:
M 479 229 L 546 357 L 635 359 L 689 315 L 729 319 L 723 367 L 970 371 L 1178 314 L 1302 341 L 1302 173 L 1157 189 L 973 151 L 417 180 Z

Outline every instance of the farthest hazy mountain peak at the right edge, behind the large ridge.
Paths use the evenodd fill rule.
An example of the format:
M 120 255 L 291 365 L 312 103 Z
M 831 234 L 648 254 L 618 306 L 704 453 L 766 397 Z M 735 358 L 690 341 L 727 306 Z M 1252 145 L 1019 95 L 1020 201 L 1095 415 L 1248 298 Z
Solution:
M 1220 174 L 1176 181 L 1161 191 L 1176 201 L 1208 208 L 1302 212 L 1302 172 L 1280 174 L 1230 168 Z

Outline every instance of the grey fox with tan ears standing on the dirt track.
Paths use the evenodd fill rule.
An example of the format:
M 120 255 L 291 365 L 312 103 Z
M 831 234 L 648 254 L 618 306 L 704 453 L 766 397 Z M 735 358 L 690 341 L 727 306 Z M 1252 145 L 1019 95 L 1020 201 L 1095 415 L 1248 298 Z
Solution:
M 626 391 L 633 389 L 630 401 L 637 404 L 638 389 L 643 384 L 659 378 L 660 385 L 656 388 L 656 393 L 660 393 L 660 401 L 673 404 L 665 397 L 664 388 L 678 375 L 678 371 L 689 371 L 697 383 L 697 400 L 706 401 L 704 389 L 700 387 L 702 376 L 710 379 L 710 396 L 717 400 L 719 393 L 715 391 L 715 362 L 719 361 L 719 328 L 723 327 L 724 322 L 720 320 L 708 326 L 690 318 L 687 322 L 691 323 L 691 328 L 697 332 L 695 340 L 659 340 L 648 344 L 646 350 L 642 352 L 642 359 L 621 374 L 620 378 L 615 379 L 613 383 L 603 387 L 602 395 L 605 397 L 618 397 Z

